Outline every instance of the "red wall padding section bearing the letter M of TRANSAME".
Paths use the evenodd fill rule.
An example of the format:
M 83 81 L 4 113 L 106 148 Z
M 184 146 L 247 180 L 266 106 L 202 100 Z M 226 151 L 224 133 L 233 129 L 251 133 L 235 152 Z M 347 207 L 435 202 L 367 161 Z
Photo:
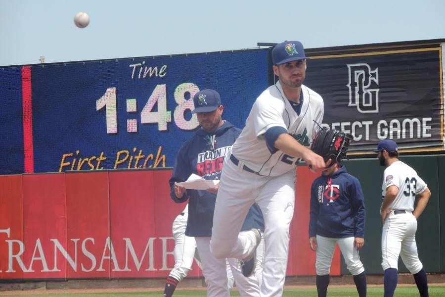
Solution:
M 154 225 L 152 171 L 110 172 L 111 239 L 118 254 L 112 277 L 155 277 L 160 255 Z

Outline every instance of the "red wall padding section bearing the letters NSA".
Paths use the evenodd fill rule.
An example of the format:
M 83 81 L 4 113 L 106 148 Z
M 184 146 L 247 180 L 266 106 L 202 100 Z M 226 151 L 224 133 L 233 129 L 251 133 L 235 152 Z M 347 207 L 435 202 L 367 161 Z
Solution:
M 107 171 L 66 173 L 67 277 L 109 278 Z

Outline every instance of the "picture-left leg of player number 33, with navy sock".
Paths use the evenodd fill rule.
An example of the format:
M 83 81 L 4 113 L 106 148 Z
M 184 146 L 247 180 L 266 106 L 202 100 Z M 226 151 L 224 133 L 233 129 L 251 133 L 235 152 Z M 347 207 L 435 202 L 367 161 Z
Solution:
M 388 214 L 382 231 L 382 268 L 384 270 L 384 297 L 393 297 L 398 282 L 398 263 L 401 242 L 404 238 L 403 220 L 394 213 Z

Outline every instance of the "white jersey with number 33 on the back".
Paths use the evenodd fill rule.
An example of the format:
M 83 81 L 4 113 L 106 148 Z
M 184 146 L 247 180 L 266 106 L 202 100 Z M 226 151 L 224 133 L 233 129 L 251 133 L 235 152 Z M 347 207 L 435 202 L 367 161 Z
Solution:
M 385 169 L 382 197 L 385 197 L 386 189 L 392 185 L 398 187 L 399 192 L 388 208 L 409 211 L 414 210 L 416 195 L 422 193 L 427 188 L 427 184 L 417 175 L 417 172 L 402 161 L 396 161 Z

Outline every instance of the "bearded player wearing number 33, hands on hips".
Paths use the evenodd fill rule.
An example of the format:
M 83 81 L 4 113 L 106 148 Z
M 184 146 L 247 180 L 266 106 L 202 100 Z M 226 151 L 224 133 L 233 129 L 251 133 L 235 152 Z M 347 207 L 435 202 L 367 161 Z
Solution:
M 397 144 L 389 139 L 379 143 L 377 157 L 387 166 L 383 175 L 380 213 L 383 220 L 382 267 L 385 271 L 384 297 L 394 296 L 397 287 L 399 255 L 414 276 L 421 297 L 428 297 L 428 280 L 417 255 L 417 219 L 425 209 L 431 192 L 410 166 L 399 160 Z M 416 208 L 414 200 L 418 196 Z

